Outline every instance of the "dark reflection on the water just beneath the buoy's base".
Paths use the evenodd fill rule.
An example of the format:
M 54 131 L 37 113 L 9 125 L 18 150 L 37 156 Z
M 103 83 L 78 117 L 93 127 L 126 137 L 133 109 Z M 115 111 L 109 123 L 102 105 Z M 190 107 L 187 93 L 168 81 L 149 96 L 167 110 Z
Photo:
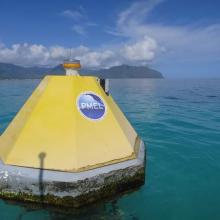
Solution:
M 80 209 L 46 207 L 42 208 L 39 204 L 2 201 L 1 206 L 7 207 L 1 213 L 1 219 L 124 219 L 123 211 L 118 207 L 117 200 L 108 203 L 93 204 Z M 12 212 L 12 210 L 14 210 Z M 6 213 L 6 212 L 10 213 Z M 131 219 L 137 219 L 131 216 Z

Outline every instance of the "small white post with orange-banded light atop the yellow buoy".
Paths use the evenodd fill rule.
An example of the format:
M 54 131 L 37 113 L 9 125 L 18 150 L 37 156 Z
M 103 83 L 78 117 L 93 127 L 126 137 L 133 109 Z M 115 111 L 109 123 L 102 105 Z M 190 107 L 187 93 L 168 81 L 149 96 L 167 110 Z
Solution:
M 75 60 L 75 59 L 64 60 L 63 68 L 66 70 L 67 76 L 79 75 L 78 70 L 81 68 L 80 60 Z

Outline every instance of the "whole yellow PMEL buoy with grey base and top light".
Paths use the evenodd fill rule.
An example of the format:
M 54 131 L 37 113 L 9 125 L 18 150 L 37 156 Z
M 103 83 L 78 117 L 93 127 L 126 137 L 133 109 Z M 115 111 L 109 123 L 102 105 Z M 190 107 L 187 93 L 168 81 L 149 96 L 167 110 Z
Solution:
M 108 83 L 46 76 L 0 137 L 0 197 L 79 207 L 145 181 L 145 146 Z

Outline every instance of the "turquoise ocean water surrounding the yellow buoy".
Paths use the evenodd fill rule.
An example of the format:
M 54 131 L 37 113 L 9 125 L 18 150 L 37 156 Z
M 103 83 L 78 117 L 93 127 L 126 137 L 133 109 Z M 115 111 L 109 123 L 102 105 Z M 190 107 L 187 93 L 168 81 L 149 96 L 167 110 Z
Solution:
M 39 80 L 0 81 L 0 133 Z M 112 80 L 147 145 L 146 184 L 81 209 L 0 200 L 0 219 L 220 219 L 220 79 Z

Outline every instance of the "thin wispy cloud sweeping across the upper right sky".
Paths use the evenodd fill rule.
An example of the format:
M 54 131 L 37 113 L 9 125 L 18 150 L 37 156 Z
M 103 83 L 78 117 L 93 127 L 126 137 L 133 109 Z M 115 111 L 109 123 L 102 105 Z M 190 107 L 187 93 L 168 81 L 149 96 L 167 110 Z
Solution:
M 148 22 L 149 13 L 162 0 L 136 2 L 118 15 L 115 28 L 107 32 L 142 41 L 146 36 L 157 44 L 160 59 L 209 61 L 220 56 L 220 24 L 165 25 Z M 141 46 L 137 53 L 141 54 Z M 128 50 L 129 51 L 129 50 Z

